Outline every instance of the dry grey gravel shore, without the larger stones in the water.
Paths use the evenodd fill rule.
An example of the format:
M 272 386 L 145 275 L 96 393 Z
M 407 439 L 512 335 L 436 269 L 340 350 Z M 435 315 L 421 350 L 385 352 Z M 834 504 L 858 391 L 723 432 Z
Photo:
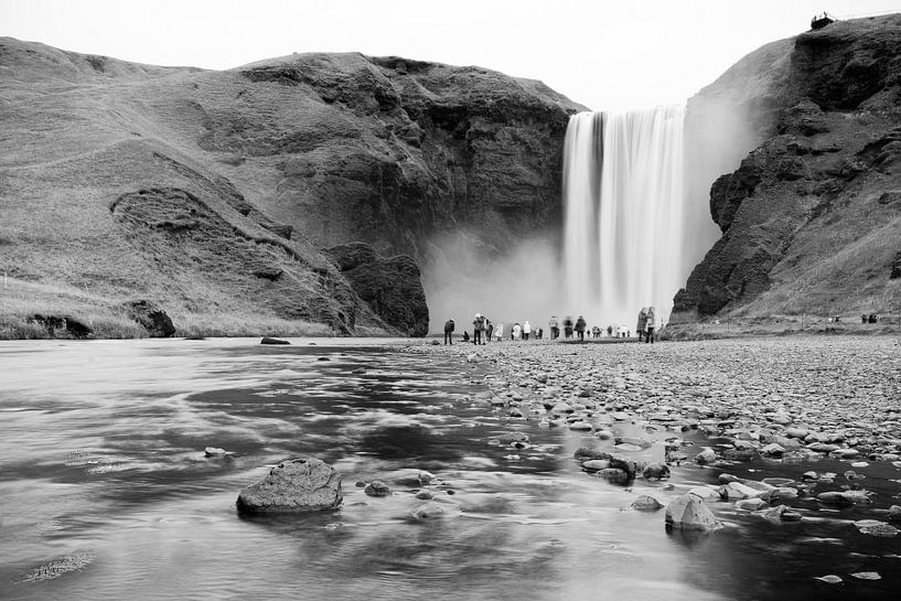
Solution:
M 716 455 L 690 458 L 698 463 L 755 454 L 901 460 L 897 336 L 504 341 L 408 350 L 486 369 L 491 393 L 479 400 L 514 419 L 601 439 L 620 421 L 698 429 L 720 442 Z

